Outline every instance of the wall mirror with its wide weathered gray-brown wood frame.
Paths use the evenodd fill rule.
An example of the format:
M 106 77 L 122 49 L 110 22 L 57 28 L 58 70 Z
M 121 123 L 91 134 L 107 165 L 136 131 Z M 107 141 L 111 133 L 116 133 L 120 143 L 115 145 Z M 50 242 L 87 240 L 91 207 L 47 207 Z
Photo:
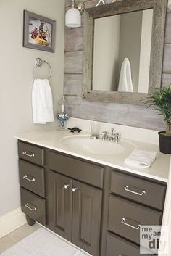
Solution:
M 86 9 L 83 98 L 141 104 L 161 87 L 167 0 L 122 0 Z

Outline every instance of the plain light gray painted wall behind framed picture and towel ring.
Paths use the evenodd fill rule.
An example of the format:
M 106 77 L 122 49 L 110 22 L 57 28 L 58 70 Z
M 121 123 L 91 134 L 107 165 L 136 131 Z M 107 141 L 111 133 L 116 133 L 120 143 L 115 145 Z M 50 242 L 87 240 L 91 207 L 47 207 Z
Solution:
M 55 53 L 22 47 L 23 10 L 57 20 Z M 0 216 L 20 207 L 17 139 L 14 135 L 27 131 L 56 128 L 57 121 L 35 125 L 32 121 L 31 91 L 37 57 L 51 64 L 51 91 L 54 111 L 63 94 L 64 2 L 61 0 L 0 0 Z

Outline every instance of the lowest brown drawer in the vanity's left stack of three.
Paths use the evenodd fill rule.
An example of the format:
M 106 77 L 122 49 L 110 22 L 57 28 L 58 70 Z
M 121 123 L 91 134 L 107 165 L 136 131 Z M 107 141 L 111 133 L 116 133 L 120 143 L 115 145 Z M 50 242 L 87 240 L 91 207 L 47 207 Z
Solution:
M 21 205 L 22 212 L 30 218 L 33 218 L 33 220 L 37 220 L 39 223 L 46 225 L 45 199 L 21 188 Z

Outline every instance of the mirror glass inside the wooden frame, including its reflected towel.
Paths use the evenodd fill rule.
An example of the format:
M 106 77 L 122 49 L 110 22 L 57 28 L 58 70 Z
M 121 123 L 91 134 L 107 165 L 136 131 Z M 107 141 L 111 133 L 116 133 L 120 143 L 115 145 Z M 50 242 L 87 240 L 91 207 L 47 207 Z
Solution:
M 153 9 L 94 21 L 92 90 L 148 93 Z

